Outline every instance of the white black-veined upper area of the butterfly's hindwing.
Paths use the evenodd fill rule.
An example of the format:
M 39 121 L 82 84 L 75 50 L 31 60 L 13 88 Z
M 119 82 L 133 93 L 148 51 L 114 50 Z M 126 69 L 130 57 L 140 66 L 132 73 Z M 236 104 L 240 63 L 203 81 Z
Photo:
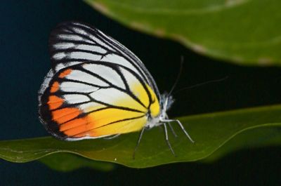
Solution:
M 57 75 L 60 76 L 64 70 Z M 148 109 L 148 98 L 141 98 L 141 95 L 148 97 L 143 85 L 124 67 L 84 63 L 81 66 L 73 66 L 62 80 L 60 91 L 67 93 L 63 98 L 68 104 L 93 103 L 83 103 L 79 105 L 81 109 L 96 109 L 107 105 L 138 108 L 141 112 Z M 136 98 L 133 98 L 133 94 Z M 141 100 L 143 105 L 140 104 Z

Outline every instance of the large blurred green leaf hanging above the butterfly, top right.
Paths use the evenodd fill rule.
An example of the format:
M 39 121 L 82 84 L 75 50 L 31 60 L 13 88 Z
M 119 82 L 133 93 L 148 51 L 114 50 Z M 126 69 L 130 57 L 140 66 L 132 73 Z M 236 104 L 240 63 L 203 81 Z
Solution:
M 244 65 L 280 65 L 279 0 L 85 0 L 128 27 Z

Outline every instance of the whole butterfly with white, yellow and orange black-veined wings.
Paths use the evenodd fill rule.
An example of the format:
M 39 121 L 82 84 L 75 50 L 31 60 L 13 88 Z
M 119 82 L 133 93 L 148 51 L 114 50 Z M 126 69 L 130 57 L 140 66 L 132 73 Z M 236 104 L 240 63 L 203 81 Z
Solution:
M 164 126 L 174 102 L 160 95 L 143 62 L 128 48 L 81 22 L 63 22 L 49 39 L 51 70 L 39 90 L 39 119 L 60 140 L 113 138 Z M 172 128 L 171 128 L 172 129 Z M 135 151 L 136 151 L 135 148 Z M 134 151 L 134 152 L 135 152 Z

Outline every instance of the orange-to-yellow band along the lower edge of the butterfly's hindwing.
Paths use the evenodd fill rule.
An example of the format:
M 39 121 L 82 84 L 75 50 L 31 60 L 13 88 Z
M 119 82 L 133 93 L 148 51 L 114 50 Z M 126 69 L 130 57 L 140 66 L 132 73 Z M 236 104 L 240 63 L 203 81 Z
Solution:
M 122 109 L 103 109 L 87 114 L 85 117 L 81 117 L 83 111 L 75 107 L 58 109 L 51 113 L 53 121 L 58 124 L 58 130 L 68 138 L 86 136 L 95 138 L 140 131 L 147 121 L 142 113 Z M 134 117 L 138 119 L 133 119 Z M 125 120 L 122 121 L 124 118 Z M 126 120 L 126 118 L 132 119 Z

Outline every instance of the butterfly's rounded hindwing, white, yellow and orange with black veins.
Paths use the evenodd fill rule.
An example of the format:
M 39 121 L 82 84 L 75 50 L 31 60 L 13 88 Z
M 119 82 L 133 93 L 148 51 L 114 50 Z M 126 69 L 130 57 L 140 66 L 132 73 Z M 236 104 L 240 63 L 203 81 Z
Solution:
M 40 96 L 41 120 L 53 135 L 68 140 L 138 131 L 157 98 L 135 76 L 98 62 L 60 69 L 42 86 L 47 88 Z

